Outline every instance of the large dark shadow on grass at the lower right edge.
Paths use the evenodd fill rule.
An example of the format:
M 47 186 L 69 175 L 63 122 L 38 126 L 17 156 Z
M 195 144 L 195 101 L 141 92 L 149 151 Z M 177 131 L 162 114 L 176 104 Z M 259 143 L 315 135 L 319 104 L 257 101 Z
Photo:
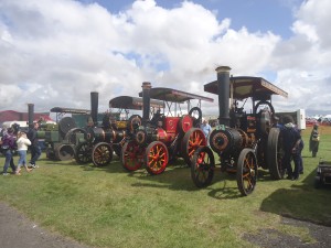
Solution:
M 314 188 L 314 176 L 312 171 L 303 180 L 292 181 L 290 188 L 275 191 L 263 201 L 260 211 L 331 226 L 331 188 Z

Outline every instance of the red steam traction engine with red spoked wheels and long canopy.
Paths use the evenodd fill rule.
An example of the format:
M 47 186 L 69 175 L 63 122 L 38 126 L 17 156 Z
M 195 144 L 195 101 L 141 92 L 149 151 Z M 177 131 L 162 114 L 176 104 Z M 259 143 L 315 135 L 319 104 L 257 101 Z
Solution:
M 143 99 L 142 125 L 136 129 L 121 152 L 122 166 L 128 171 L 136 171 L 146 165 L 150 174 L 160 174 L 166 170 L 169 161 L 181 157 L 190 164 L 190 159 L 196 148 L 206 144 L 206 139 L 200 128 L 201 110 L 194 107 L 189 115 L 177 116 L 177 108 L 180 104 L 199 99 L 213 101 L 202 97 L 170 88 L 152 88 L 150 83 L 142 84 Z M 149 120 L 150 99 L 163 100 L 167 103 L 169 112 L 166 116 L 159 110 Z M 174 104 L 175 111 L 171 112 L 171 105 Z

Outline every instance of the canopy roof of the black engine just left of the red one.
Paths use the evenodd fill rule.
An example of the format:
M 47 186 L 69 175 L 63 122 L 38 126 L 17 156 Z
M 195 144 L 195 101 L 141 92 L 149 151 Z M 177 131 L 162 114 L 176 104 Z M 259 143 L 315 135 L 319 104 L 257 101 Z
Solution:
M 141 97 L 119 96 L 109 100 L 109 108 L 142 110 L 142 105 L 143 103 Z M 150 107 L 164 108 L 164 103 L 161 100 L 151 99 Z

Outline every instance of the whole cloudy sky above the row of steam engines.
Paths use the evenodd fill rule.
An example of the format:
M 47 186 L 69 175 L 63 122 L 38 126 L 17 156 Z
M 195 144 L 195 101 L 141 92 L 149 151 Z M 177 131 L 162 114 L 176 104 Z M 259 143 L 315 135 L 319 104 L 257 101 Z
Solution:
M 106 111 L 150 82 L 212 97 L 202 110 L 217 115 L 203 85 L 225 65 L 287 91 L 276 112 L 331 114 L 330 12 L 330 0 L 0 0 L 0 111 L 89 109 L 90 91 Z

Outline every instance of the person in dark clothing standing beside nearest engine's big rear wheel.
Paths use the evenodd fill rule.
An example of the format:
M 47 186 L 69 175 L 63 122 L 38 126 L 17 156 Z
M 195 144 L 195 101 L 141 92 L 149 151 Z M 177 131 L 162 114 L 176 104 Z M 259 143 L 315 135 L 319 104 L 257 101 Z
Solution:
M 287 179 L 298 180 L 300 170 L 300 149 L 301 134 L 293 123 L 291 116 L 284 116 L 284 128 L 281 129 L 284 145 L 284 165 L 287 169 Z M 291 166 L 291 160 L 295 162 L 295 170 Z

